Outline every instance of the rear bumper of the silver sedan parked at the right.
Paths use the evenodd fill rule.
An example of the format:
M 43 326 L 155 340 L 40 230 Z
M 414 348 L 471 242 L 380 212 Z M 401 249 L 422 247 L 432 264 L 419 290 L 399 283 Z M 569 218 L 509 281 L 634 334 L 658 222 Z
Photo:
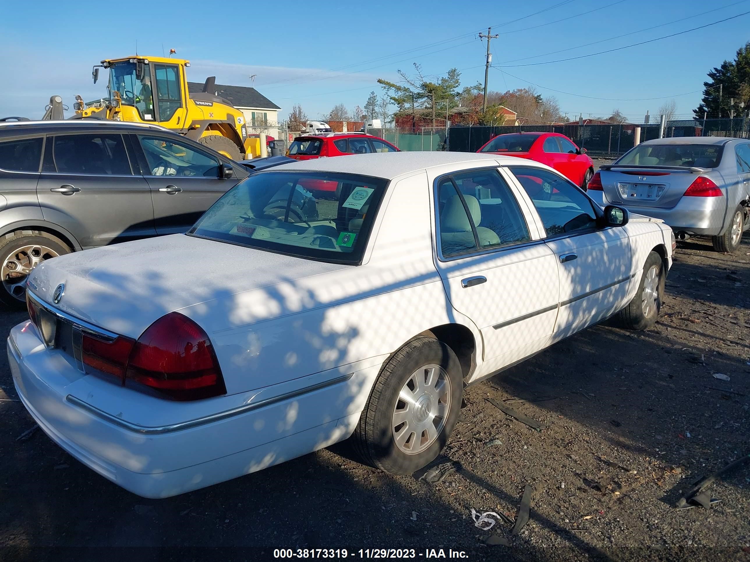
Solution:
M 587 192 L 598 205 L 618 205 L 631 213 L 661 219 L 672 227 L 674 232 L 687 232 L 690 235 L 717 236 L 724 231 L 724 218 L 727 212 L 727 200 L 721 197 L 682 197 L 677 205 L 670 209 L 646 207 L 643 205 L 623 205 L 610 202 L 603 191 Z

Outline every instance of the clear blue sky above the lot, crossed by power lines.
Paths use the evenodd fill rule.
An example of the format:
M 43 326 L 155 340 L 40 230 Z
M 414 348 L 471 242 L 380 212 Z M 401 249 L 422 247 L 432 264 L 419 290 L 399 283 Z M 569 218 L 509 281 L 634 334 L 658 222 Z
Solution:
M 636 122 L 664 103 L 641 98 L 666 97 L 688 118 L 706 72 L 750 40 L 747 14 L 602 55 L 511 67 L 616 49 L 750 11 L 750 0 L 615 2 L 224 0 L 217 10 L 205 0 L 136 2 L 132 9 L 82 4 L 80 10 L 51 1 L 0 2 L 0 116 L 39 118 L 52 94 L 71 107 L 74 94 L 86 100 L 104 96 L 106 80 L 92 83 L 92 65 L 132 54 L 137 41 L 144 55 L 176 49 L 179 58 L 191 61 L 193 82 L 215 75 L 218 83 L 254 85 L 284 109 L 282 115 L 299 103 L 315 118 L 336 103 L 364 106 L 370 91 L 382 94 L 377 78 L 398 79 L 397 70 L 408 71 L 413 62 L 428 75 L 457 67 L 466 69 L 464 84 L 483 81 L 486 46 L 476 34 L 491 25 L 500 35 L 492 42 L 493 65 L 503 68 L 490 70 L 490 90 L 533 82 L 569 116 L 610 115 L 619 108 Z M 697 15 L 707 10 L 715 11 Z M 569 19 L 550 24 L 562 18 Z M 632 33 L 682 18 L 689 19 Z M 628 35 L 606 40 L 622 34 Z M 559 53 L 529 58 L 550 52 Z

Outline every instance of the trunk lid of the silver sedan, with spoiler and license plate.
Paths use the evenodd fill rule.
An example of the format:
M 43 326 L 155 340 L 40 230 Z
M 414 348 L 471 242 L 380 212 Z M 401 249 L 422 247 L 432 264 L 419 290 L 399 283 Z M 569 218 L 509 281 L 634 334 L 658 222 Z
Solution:
M 716 169 L 688 166 L 612 166 L 600 169 L 607 200 L 633 207 L 673 208 L 699 175 L 721 187 Z

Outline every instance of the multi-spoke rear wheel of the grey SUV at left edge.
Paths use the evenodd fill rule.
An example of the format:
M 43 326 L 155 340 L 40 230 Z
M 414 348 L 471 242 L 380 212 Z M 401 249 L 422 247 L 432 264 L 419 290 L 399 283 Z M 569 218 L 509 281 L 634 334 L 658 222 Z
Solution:
M 0 238 L 2 289 L 0 302 L 16 309 L 26 307 L 26 278 L 45 259 L 71 253 L 68 244 L 38 230 L 17 230 Z

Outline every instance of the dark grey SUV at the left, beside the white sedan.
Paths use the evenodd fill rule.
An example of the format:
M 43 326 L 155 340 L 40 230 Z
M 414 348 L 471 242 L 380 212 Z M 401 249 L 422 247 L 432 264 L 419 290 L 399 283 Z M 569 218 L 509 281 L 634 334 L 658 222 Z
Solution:
M 155 125 L 0 124 L 0 301 L 23 306 L 40 262 L 185 232 L 248 169 Z

